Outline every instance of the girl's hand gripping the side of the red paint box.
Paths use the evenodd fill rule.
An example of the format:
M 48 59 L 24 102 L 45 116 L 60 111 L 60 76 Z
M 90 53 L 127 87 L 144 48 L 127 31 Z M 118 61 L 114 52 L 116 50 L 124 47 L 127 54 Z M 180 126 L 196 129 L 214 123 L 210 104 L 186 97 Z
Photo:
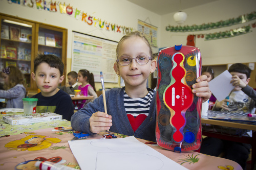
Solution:
M 197 82 L 193 84 L 193 93 L 196 93 L 198 97 L 201 97 L 203 99 L 203 103 L 206 102 L 211 95 L 210 89 L 208 87 L 207 76 L 202 75 L 199 78 L 197 78 Z

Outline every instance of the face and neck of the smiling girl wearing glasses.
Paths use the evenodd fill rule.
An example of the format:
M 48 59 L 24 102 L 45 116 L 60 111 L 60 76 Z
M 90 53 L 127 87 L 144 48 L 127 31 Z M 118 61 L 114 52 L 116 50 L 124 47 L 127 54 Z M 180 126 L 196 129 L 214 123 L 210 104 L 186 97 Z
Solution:
M 150 49 L 145 41 L 140 37 L 129 37 L 125 39 L 119 47 L 119 57 L 130 56 L 135 59 L 139 55 L 150 57 Z M 145 65 L 139 65 L 135 60 L 129 65 L 122 66 L 119 63 L 114 64 L 117 75 L 124 80 L 125 87 L 146 88 L 146 81 L 150 72 L 156 69 L 156 60 L 150 60 Z

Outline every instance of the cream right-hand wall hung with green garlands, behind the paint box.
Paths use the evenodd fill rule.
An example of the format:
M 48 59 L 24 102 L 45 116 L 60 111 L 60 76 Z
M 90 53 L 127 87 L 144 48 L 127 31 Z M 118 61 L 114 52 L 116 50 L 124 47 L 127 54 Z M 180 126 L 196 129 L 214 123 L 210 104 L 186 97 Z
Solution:
M 178 11 L 178 9 L 177 9 Z M 201 25 L 203 23 L 217 22 L 230 18 L 237 18 L 240 15 L 256 11 L 255 0 L 220 0 L 208 3 L 195 8 L 183 10 L 187 13 L 187 19 L 181 26 Z M 175 44 L 186 44 L 189 34 L 206 34 L 228 31 L 243 26 L 251 25 L 256 20 L 241 23 L 221 29 L 209 31 L 172 33 L 165 30 L 168 25 L 177 26 L 173 20 L 173 13 L 161 16 L 161 41 L 160 47 L 174 46 Z M 232 38 L 205 41 L 203 38 L 196 38 L 196 46 L 202 54 L 203 65 L 247 63 L 256 61 L 256 28 L 251 33 L 239 35 Z

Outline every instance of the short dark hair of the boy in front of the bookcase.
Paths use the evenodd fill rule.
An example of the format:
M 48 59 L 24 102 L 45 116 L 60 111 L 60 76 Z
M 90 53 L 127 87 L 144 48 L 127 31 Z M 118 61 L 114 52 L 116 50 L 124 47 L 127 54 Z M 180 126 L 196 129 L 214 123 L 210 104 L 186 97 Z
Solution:
M 41 63 L 47 63 L 52 68 L 57 68 L 60 72 L 60 76 L 63 74 L 64 64 L 61 59 L 52 54 L 38 54 L 34 60 L 34 73 L 36 72 L 37 66 Z

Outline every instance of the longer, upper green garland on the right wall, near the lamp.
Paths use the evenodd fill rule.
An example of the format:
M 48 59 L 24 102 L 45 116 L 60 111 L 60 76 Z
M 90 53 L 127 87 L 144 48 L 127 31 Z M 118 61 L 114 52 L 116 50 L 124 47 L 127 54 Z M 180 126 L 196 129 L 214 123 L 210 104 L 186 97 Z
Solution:
M 169 32 L 195 32 L 195 31 L 204 31 L 204 30 L 212 30 L 217 28 L 229 27 L 233 25 L 237 25 L 239 23 L 245 23 L 251 20 L 256 19 L 256 12 L 253 11 L 249 14 L 245 14 L 239 16 L 237 18 L 221 20 L 218 22 L 210 22 L 210 23 L 203 23 L 202 25 L 192 25 L 192 26 L 166 26 L 165 30 Z

